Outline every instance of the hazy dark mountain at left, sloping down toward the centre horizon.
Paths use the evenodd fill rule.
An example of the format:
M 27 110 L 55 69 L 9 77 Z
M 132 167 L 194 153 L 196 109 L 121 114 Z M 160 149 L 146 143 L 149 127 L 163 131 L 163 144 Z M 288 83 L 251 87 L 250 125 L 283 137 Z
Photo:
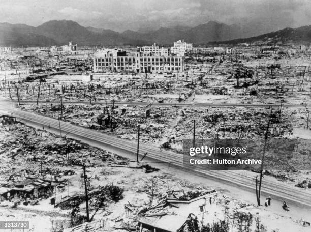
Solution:
M 78 45 L 138 45 L 146 43 L 140 39 L 126 38 L 118 32 L 83 27 L 70 20 L 48 21 L 38 27 L 24 24 L 0 23 L 1 46 L 50 46 Z

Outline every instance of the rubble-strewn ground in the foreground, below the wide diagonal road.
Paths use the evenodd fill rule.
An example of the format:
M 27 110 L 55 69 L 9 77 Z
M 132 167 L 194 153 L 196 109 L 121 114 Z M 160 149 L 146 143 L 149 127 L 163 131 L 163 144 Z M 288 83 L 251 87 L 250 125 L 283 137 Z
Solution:
M 291 226 L 307 231 L 303 220 L 280 217 L 265 208 L 245 204 L 199 183 L 190 183 L 169 170 L 146 173 L 145 168 L 129 168 L 129 160 L 79 141 L 17 123 L 0 127 L 0 189 L 20 185 L 29 178 L 45 180 L 53 187 L 41 197 L 11 195 L 0 202 L 0 216 L 8 220 L 29 220 L 29 231 L 63 231 L 85 225 L 83 169 L 87 173 L 90 215 L 104 231 L 128 231 L 137 225 L 137 216 L 146 212 L 149 218 L 170 215 L 165 207 L 155 207 L 163 199 L 191 200 L 202 194 L 213 194 L 210 220 L 251 213 L 262 226 L 271 220 L 276 226 Z M 18 184 L 19 183 L 19 184 Z M 28 186 L 28 185 L 26 185 Z M 29 186 L 28 186 L 29 187 Z M 25 190 L 24 187 L 23 190 Z M 0 192 L 0 195 L 3 192 Z M 3 195 L 2 195 L 3 196 Z M 51 205 L 55 199 L 55 207 Z M 227 215 L 227 216 L 226 216 Z M 214 218 L 214 219 L 212 219 Z M 93 225 L 92 223 L 87 226 Z M 274 224 L 273 224 L 274 225 Z M 255 227 L 253 220 L 251 227 Z

